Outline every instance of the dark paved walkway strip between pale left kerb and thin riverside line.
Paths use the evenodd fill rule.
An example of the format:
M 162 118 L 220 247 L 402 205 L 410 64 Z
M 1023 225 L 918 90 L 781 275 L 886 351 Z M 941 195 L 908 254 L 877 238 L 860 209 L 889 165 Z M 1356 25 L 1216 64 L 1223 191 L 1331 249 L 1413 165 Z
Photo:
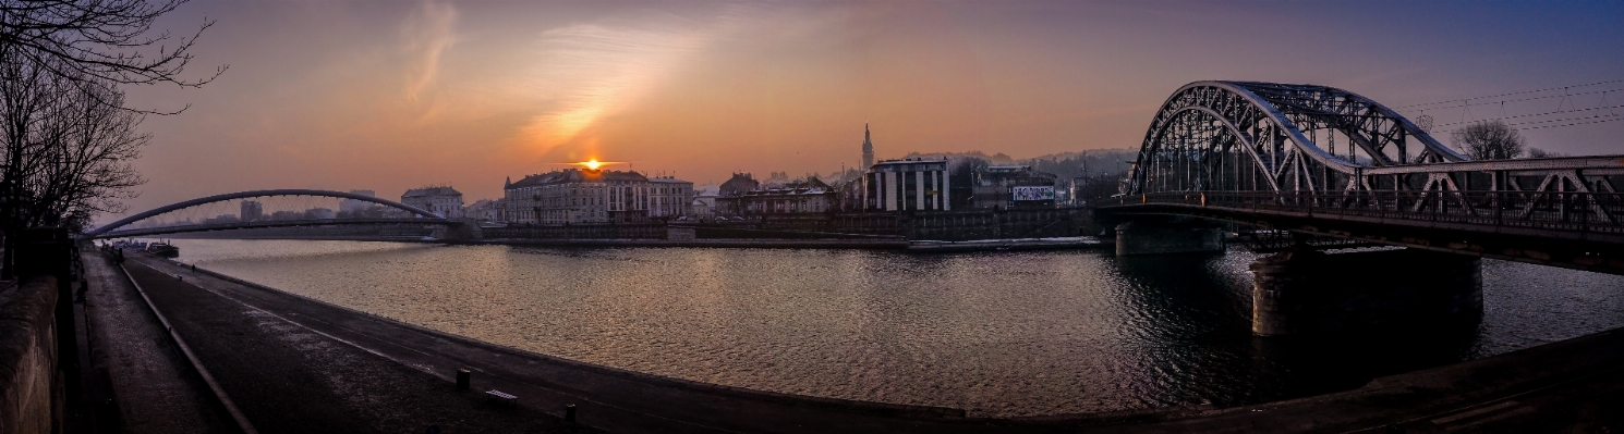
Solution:
M 193 285 L 206 279 L 149 257 L 127 269 L 260 432 L 593 432 L 211 291 L 229 282 Z

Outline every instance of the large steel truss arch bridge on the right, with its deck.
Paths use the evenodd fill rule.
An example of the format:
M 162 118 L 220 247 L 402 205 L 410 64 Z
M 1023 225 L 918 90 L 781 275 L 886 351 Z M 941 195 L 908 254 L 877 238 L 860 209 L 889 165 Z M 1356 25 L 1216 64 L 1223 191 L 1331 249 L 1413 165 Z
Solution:
M 1195 215 L 1624 274 L 1619 188 L 1624 155 L 1471 160 L 1354 92 L 1197 81 L 1151 118 L 1122 194 L 1096 215 Z

